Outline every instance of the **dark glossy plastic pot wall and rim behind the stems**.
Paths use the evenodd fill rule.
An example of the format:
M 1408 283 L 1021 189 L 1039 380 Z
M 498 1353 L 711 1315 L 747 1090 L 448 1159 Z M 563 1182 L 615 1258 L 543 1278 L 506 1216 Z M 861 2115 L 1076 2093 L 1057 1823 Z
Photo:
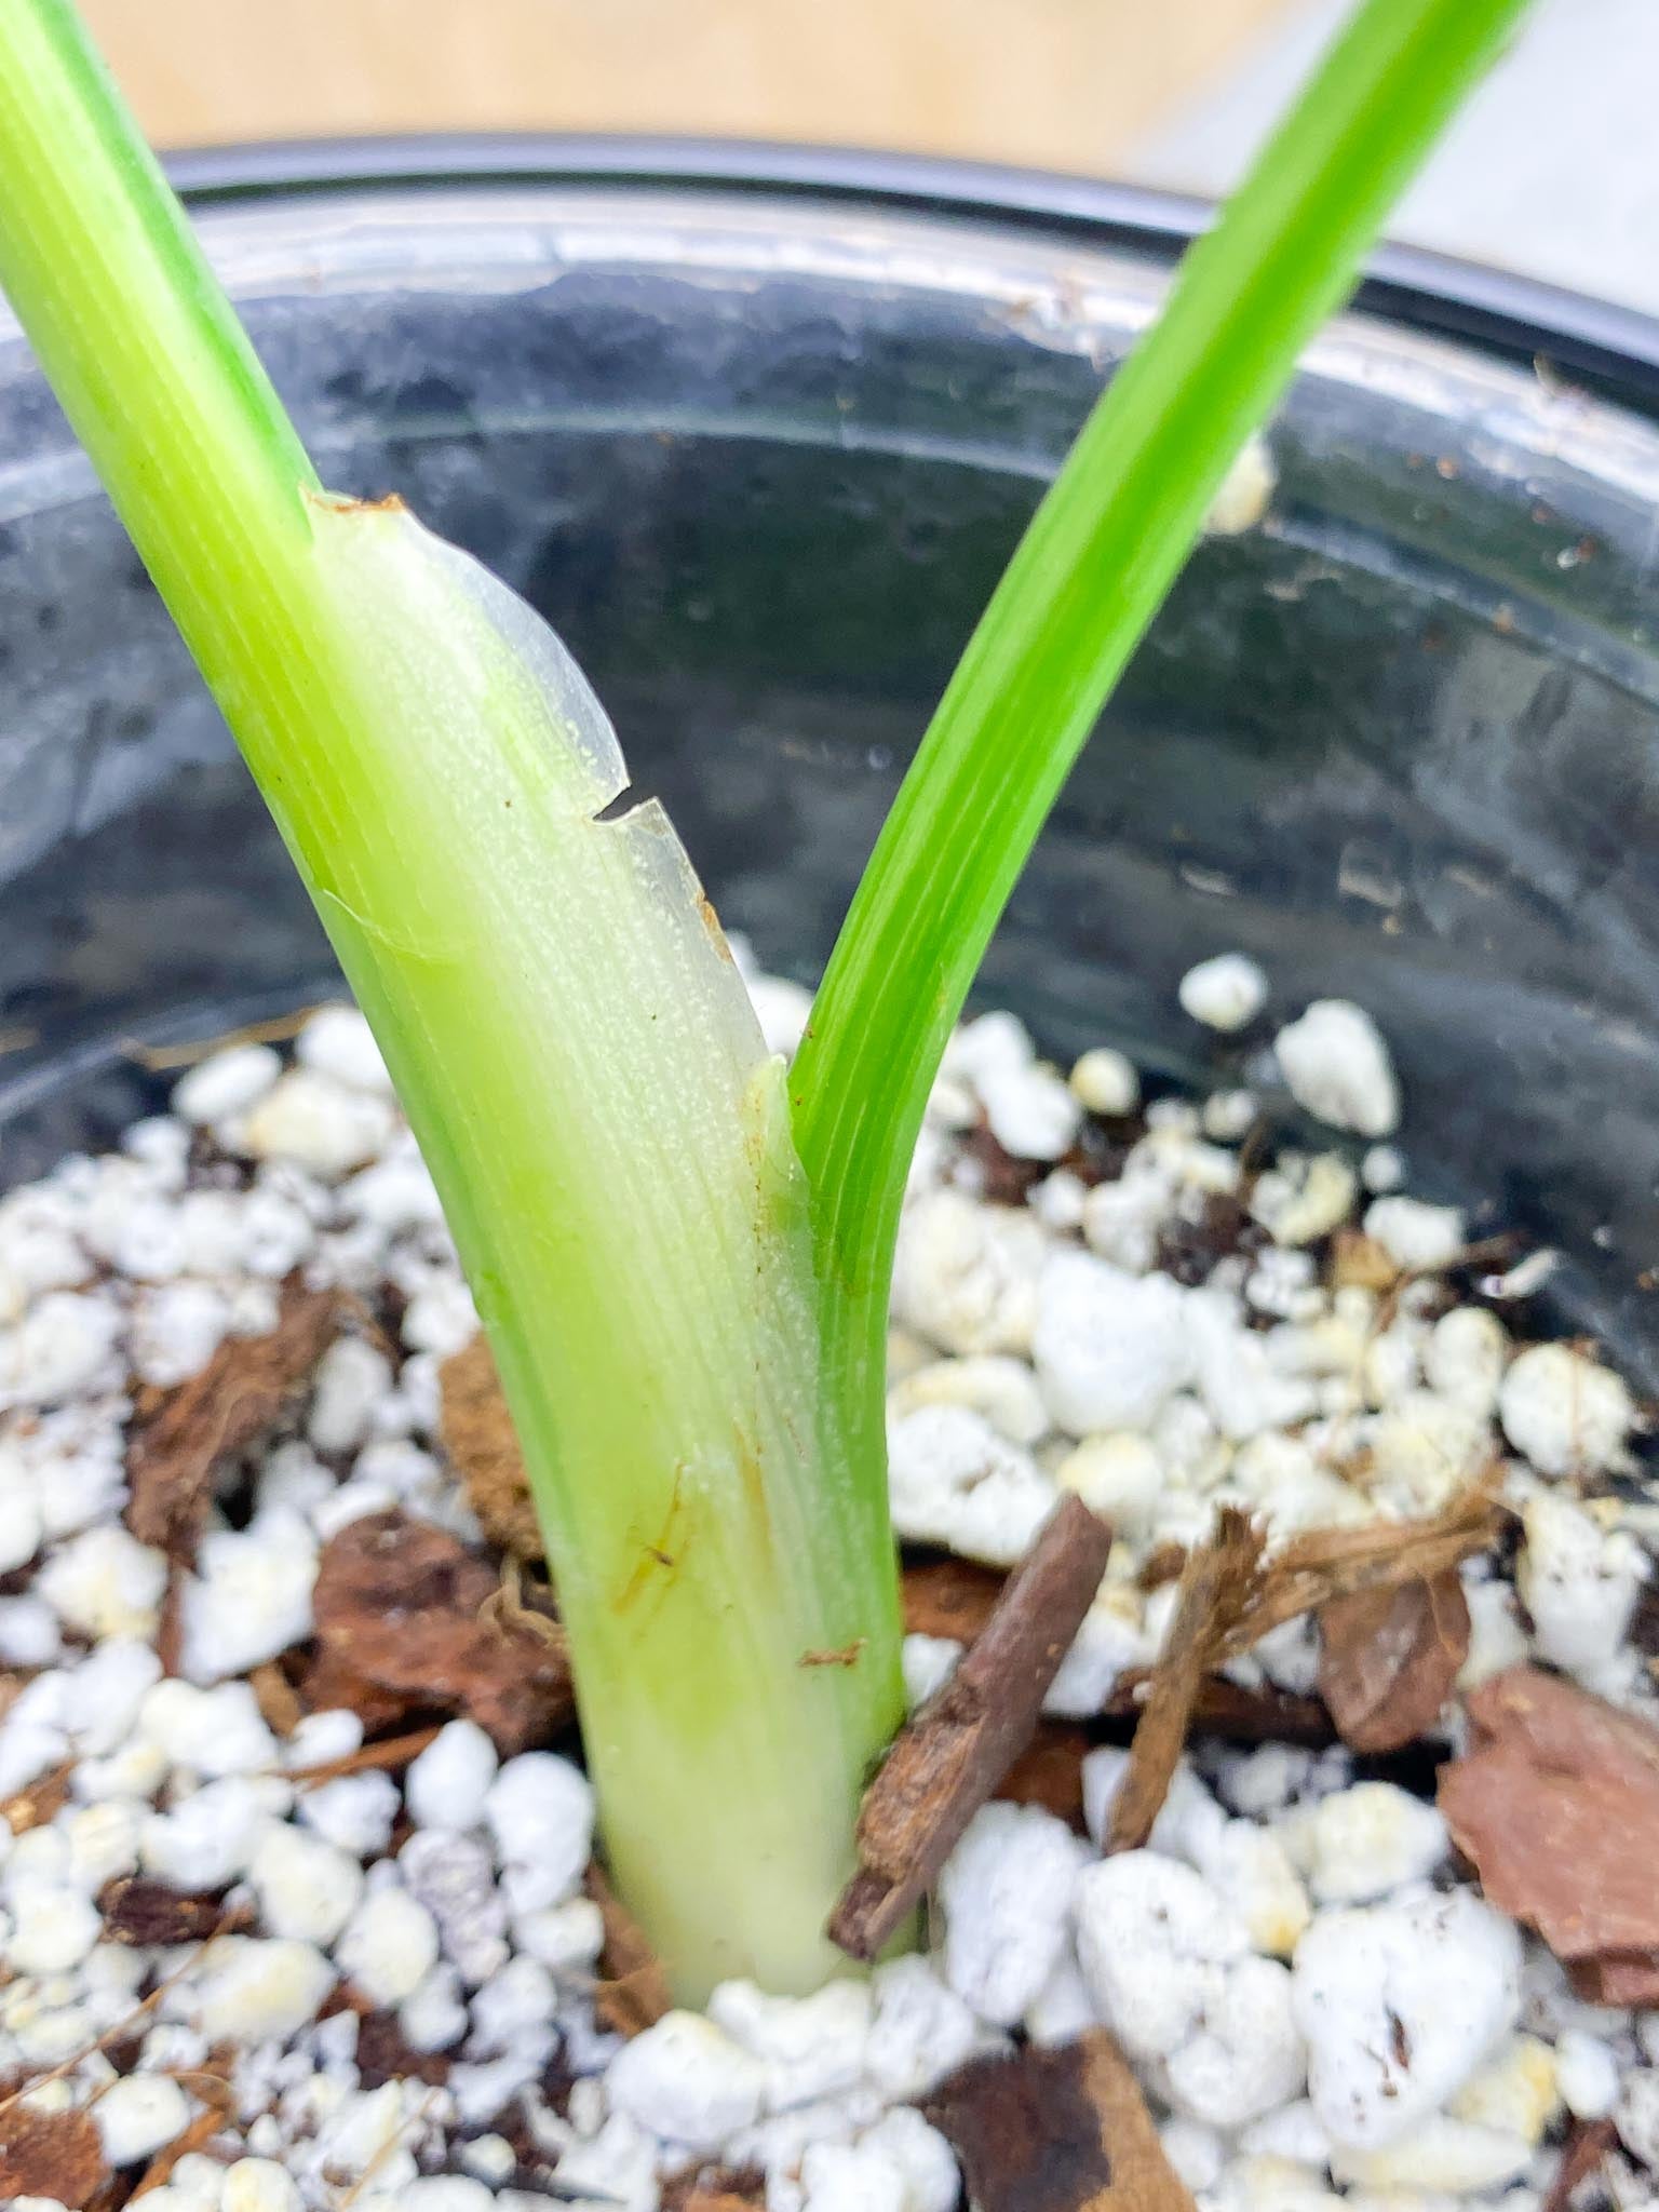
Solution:
M 564 630 L 726 918 L 810 975 L 929 703 L 1201 212 L 891 157 L 460 142 L 179 164 L 323 476 Z M 1413 1186 L 1659 1371 L 1659 325 L 1387 254 L 1077 770 L 984 975 L 1170 1077 L 1245 947 L 1391 1035 Z M 1110 580 L 1102 580 L 1110 588 Z M 0 330 L 0 1166 L 314 991 L 263 812 Z M 22 1042 L 15 1033 L 22 1033 Z

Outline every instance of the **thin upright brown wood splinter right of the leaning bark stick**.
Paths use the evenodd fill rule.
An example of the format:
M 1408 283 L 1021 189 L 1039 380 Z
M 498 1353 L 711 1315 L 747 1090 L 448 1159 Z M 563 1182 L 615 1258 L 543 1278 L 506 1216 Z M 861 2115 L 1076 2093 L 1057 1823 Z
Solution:
M 1263 1533 L 1237 1506 L 1223 1506 L 1214 1537 L 1181 1568 L 1175 1619 L 1128 1747 L 1128 1772 L 1113 1801 L 1106 1851 L 1139 1851 L 1152 1834 L 1170 1776 L 1192 1730 L 1206 1674 L 1256 1590 Z

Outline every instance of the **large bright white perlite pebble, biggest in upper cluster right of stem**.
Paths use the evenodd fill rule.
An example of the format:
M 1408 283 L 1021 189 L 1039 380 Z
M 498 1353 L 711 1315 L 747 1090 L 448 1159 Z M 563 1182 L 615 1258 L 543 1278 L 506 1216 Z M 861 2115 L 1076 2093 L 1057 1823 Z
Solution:
M 1037 1383 L 1071 1436 L 1146 1429 L 1192 1374 L 1186 1292 L 1086 1252 L 1057 1252 L 1037 1283 Z

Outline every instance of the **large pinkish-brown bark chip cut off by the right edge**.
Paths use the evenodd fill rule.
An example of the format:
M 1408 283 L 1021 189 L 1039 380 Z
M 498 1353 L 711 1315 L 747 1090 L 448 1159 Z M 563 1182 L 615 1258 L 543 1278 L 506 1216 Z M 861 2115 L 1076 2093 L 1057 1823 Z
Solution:
M 1659 1730 L 1528 1666 L 1467 1705 L 1475 1743 L 1440 1770 L 1440 1812 L 1480 1887 L 1559 1960 L 1637 1980 L 1659 1960 Z

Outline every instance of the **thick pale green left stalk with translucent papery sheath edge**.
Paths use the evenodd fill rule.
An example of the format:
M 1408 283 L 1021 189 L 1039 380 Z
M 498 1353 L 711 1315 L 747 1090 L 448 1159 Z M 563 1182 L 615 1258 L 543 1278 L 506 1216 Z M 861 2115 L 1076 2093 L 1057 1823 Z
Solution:
M 891 1540 L 712 914 L 577 668 L 316 489 L 64 0 L 0 7 L 0 281 L 383 1044 L 531 1467 L 615 1876 L 697 1997 L 812 1989 L 896 1725 Z M 845 1663 L 812 1663 L 841 1655 Z

